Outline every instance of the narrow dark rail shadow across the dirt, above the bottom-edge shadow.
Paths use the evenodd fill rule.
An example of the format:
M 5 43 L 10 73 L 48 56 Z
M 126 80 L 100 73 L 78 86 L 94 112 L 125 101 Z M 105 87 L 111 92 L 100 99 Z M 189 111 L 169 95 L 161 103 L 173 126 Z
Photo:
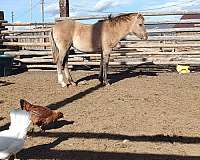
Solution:
M 62 140 L 69 138 L 80 139 L 108 139 L 108 140 L 127 140 L 130 142 L 153 142 L 153 143 L 181 143 L 181 144 L 200 144 L 200 137 L 178 136 L 178 135 L 123 135 L 112 133 L 92 133 L 92 132 L 35 132 L 33 137 L 50 137 Z

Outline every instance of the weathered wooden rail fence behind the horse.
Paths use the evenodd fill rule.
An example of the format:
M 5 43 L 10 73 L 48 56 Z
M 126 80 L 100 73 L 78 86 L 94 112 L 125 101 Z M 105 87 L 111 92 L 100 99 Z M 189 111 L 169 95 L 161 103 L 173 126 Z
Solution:
M 200 12 L 154 13 L 144 12 L 149 38 L 139 40 L 128 35 L 122 39 L 111 54 L 110 65 L 154 64 L 200 64 L 200 19 L 166 20 L 167 16 L 194 15 Z M 113 15 L 115 16 L 115 15 Z M 108 16 L 71 17 L 76 20 L 105 19 Z M 151 20 L 148 20 L 151 17 Z M 66 18 L 59 18 L 63 20 Z M 155 20 L 154 20 L 155 19 Z M 193 24 L 192 28 L 175 28 L 175 24 Z M 49 31 L 54 23 L 7 23 L 0 21 L 0 41 L 6 54 L 15 56 L 28 68 L 55 68 L 52 63 Z M 17 29 L 17 27 L 27 27 Z M 12 28 L 14 27 L 14 29 Z M 13 47 L 15 46 L 15 47 Z M 18 48 L 16 48 L 18 46 Z M 18 49 L 16 51 L 16 49 Z M 70 65 L 99 65 L 100 54 L 81 53 L 70 55 Z

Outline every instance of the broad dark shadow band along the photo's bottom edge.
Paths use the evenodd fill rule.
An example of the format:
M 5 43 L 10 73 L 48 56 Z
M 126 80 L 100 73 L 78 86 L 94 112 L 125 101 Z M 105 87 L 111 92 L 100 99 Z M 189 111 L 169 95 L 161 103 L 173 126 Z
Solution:
M 57 150 L 52 144 L 24 149 L 17 154 L 22 159 L 67 159 L 67 160 L 199 160 L 200 156 L 173 154 L 105 152 L 92 150 Z M 53 148 L 53 147 L 52 147 Z M 38 153 L 38 151 L 40 151 Z

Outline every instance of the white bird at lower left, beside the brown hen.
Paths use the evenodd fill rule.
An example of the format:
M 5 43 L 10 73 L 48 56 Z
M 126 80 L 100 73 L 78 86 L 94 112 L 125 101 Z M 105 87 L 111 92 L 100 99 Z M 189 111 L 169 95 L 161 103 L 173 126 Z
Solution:
M 0 132 L 0 159 L 9 159 L 22 150 L 31 123 L 30 114 L 21 109 L 11 111 L 10 118 L 9 129 Z

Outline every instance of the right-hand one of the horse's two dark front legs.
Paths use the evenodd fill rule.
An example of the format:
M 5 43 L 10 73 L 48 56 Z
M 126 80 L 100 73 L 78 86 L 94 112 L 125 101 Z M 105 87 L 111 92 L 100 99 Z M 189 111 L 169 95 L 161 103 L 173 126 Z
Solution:
M 108 82 L 108 77 L 107 77 L 109 58 L 110 58 L 110 52 L 103 52 L 103 84 L 104 85 L 110 85 Z

